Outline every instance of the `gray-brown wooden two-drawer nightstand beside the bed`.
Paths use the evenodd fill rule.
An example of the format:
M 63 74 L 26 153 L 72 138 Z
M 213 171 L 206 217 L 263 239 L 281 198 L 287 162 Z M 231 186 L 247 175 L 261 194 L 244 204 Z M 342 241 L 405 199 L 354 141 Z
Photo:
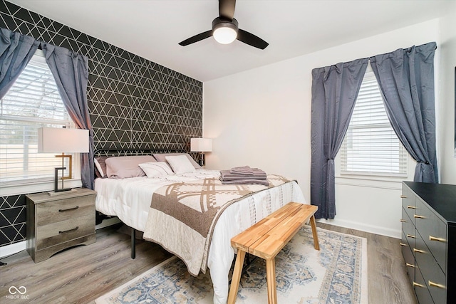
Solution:
M 35 263 L 76 245 L 95 243 L 95 193 L 81 188 L 28 194 L 27 251 Z

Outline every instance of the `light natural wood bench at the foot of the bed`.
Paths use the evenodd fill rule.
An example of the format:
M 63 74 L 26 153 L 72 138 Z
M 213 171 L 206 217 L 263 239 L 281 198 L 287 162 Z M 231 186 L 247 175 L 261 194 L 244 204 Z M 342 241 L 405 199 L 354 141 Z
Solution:
M 309 219 L 314 236 L 314 247 L 320 250 L 314 216 L 317 210 L 317 206 L 290 202 L 231 239 L 231 245 L 237 248 L 237 257 L 229 289 L 229 304 L 234 303 L 237 297 L 245 253 L 266 260 L 268 303 L 277 303 L 274 258 Z

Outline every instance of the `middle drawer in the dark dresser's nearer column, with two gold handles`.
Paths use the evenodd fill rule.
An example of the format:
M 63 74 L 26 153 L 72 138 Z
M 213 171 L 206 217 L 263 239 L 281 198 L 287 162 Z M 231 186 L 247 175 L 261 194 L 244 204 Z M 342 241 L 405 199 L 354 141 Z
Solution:
M 437 266 L 434 256 L 429 252 L 425 242 L 420 237 L 416 239 L 416 249 L 423 252 L 415 253 L 416 268 L 420 269 L 427 289 L 435 303 L 445 303 L 446 277 Z

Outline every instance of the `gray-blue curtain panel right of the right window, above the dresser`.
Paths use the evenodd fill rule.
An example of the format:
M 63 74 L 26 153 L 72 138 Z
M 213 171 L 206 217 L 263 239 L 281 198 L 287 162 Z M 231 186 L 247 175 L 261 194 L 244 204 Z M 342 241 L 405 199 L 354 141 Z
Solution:
M 385 110 L 405 149 L 418 162 L 415 182 L 438 182 L 435 152 L 435 42 L 373 56 Z

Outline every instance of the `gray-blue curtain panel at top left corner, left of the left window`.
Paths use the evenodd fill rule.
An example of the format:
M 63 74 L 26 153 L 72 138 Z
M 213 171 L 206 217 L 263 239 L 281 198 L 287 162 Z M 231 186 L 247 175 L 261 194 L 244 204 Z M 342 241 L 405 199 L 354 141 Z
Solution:
M 0 98 L 21 75 L 39 44 L 33 37 L 0 28 Z

